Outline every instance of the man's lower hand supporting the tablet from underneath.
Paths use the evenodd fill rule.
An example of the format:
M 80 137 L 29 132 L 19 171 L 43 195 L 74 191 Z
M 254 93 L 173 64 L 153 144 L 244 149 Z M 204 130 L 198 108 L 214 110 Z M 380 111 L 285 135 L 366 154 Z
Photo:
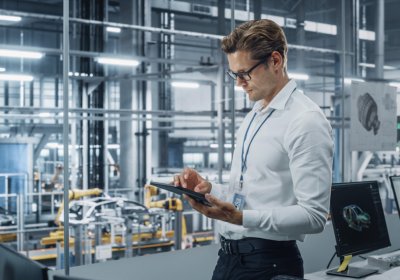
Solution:
M 206 194 L 206 199 L 211 203 L 211 207 L 198 203 L 187 195 L 185 195 L 185 198 L 189 201 L 193 209 L 209 218 L 221 220 L 235 225 L 243 224 L 242 212 L 237 210 L 232 203 L 219 200 L 211 194 Z

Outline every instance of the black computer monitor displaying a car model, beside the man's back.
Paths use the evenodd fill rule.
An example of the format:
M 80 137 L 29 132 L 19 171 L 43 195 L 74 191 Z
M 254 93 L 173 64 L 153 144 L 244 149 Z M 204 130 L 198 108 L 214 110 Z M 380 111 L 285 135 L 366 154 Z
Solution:
M 333 184 L 330 212 L 336 253 L 341 259 L 390 246 L 377 181 Z M 347 267 L 327 273 L 360 278 L 376 271 Z

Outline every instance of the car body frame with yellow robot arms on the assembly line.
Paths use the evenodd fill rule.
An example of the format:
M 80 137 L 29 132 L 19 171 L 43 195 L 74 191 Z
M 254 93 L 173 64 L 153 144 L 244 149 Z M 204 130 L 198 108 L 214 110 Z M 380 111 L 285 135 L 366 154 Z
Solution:
M 70 193 L 69 225 L 70 245 L 75 246 L 86 239 L 90 246 L 111 244 L 113 251 L 132 251 L 132 248 L 170 249 L 175 242 L 172 240 L 175 231 L 172 229 L 169 210 L 182 211 L 182 202 L 171 198 L 165 201 L 152 201 L 148 209 L 135 201 L 123 197 L 110 197 L 103 193 L 102 197 L 82 198 L 87 195 L 98 195 L 96 190 L 74 191 Z M 73 200 L 75 199 L 75 200 Z M 180 220 L 182 217 L 180 218 Z M 46 247 L 63 244 L 64 234 L 63 207 L 57 215 L 60 228 L 41 239 Z M 179 231 L 181 232 L 181 231 Z M 184 232 L 185 233 L 185 232 Z

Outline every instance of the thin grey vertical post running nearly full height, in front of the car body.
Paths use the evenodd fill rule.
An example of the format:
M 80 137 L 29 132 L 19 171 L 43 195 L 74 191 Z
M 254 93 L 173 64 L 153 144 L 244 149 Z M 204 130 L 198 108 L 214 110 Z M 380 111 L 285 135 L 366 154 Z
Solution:
M 68 119 L 68 72 L 69 72 L 69 0 L 64 0 L 63 6 L 63 141 L 64 141 L 64 268 L 65 275 L 69 275 L 69 119 Z

